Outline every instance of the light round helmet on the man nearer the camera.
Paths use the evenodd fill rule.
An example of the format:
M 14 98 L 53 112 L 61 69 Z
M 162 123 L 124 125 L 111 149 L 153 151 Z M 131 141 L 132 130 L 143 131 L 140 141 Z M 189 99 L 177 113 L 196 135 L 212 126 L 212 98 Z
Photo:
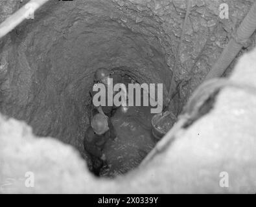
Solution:
M 100 113 L 96 114 L 91 120 L 91 127 L 93 128 L 93 131 L 97 133 L 97 135 L 104 134 L 106 131 L 108 131 L 108 129 L 110 129 L 108 127 L 108 116 Z

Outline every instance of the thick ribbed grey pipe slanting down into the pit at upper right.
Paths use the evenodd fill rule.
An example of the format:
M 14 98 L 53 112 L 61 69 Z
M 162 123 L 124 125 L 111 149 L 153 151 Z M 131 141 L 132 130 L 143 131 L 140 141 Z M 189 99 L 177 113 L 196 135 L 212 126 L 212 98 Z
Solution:
M 211 78 L 218 78 L 226 71 L 227 67 L 235 59 L 237 54 L 243 47 L 245 43 L 256 30 L 256 1 L 253 3 L 250 12 L 244 18 L 240 24 L 235 38 L 231 39 L 227 44 L 227 47 L 223 50 L 218 61 L 213 65 L 211 70 L 208 72 L 205 80 Z

